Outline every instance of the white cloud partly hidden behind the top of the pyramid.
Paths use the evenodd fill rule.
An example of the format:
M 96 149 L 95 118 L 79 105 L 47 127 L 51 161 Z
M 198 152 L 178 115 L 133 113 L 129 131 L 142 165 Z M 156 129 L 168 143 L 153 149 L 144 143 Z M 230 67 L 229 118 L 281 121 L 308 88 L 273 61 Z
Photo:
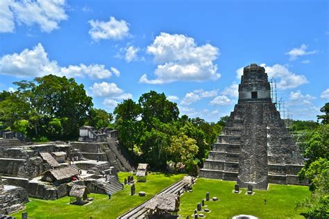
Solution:
M 292 89 L 308 83 L 305 76 L 292 73 L 284 65 L 274 64 L 273 66 L 267 66 L 266 64 L 260 64 L 260 66 L 265 68 L 269 79 L 276 78 L 276 87 L 278 89 Z M 241 78 L 243 69 L 237 69 L 237 78 Z

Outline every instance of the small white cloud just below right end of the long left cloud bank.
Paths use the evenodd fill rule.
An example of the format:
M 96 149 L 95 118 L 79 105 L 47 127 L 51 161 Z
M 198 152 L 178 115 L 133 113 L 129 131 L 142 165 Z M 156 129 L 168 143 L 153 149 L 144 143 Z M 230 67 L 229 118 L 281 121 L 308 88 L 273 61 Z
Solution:
M 90 89 L 94 96 L 119 96 L 124 93 L 115 83 L 108 82 L 95 82 Z

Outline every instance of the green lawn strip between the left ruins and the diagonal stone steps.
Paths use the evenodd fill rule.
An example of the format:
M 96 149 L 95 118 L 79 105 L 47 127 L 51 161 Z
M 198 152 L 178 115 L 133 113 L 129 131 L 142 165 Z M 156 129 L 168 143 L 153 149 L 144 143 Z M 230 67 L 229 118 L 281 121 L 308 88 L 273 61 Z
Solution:
M 124 177 L 132 175 L 131 173 L 119 173 L 120 182 L 124 181 Z M 85 206 L 76 206 L 68 204 L 70 198 L 64 197 L 59 200 L 38 200 L 30 198 L 31 202 L 26 204 L 24 211 L 28 212 L 28 216 L 32 218 L 117 218 L 123 213 L 136 207 L 142 202 L 149 200 L 156 193 L 162 191 L 166 187 L 174 184 L 183 178 L 183 174 L 165 175 L 163 173 L 151 173 L 147 175 L 146 182 L 137 182 L 137 195 L 130 195 L 130 186 L 125 186 L 123 191 L 112 195 L 108 200 L 108 195 L 90 194 L 94 201 Z M 139 197 L 138 192 L 145 191 L 146 197 Z M 13 216 L 22 218 L 22 211 L 15 213 Z

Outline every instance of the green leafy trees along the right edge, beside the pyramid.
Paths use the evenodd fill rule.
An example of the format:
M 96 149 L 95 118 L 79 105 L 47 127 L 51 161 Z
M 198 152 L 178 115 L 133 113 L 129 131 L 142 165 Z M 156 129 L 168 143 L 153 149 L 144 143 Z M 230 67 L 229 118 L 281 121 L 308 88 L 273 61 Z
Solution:
M 328 103 L 321 112 L 328 115 Z M 329 124 L 328 117 L 320 118 L 323 125 L 308 132 L 305 137 L 304 156 L 308 160 L 298 174 L 301 179 L 307 177 L 312 195 L 296 202 L 296 208 L 309 207 L 307 216 L 310 218 L 329 218 Z

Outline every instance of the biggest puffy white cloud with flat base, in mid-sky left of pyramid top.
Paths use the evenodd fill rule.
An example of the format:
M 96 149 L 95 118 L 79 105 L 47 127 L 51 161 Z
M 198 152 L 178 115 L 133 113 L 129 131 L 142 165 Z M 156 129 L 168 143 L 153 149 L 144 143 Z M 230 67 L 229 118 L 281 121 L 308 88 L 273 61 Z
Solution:
M 174 81 L 217 80 L 217 64 L 213 61 L 219 55 L 219 49 L 210 44 L 197 46 L 192 37 L 185 35 L 160 33 L 147 52 L 154 56 L 155 79 L 149 80 L 144 74 L 140 82 L 164 84 Z

